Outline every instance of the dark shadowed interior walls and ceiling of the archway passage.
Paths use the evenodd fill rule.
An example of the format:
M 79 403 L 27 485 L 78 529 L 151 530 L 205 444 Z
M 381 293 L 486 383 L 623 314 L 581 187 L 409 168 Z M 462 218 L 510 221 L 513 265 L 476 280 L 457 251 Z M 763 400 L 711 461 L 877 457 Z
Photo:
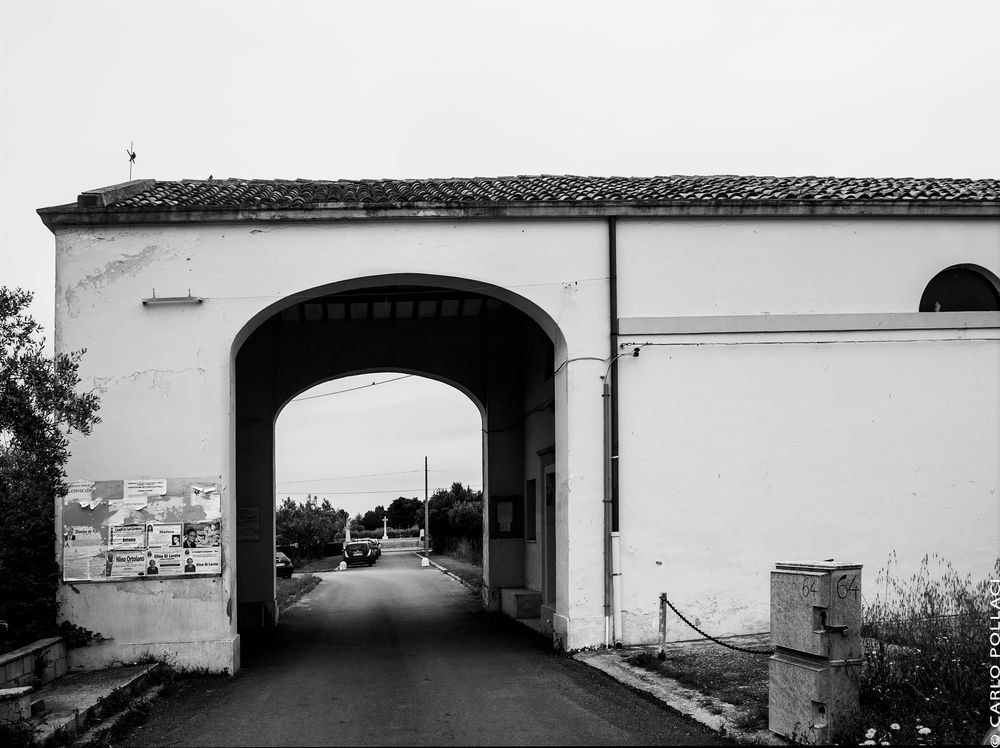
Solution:
M 557 519 L 543 501 L 529 502 L 525 490 L 542 486 L 543 471 L 553 469 L 553 361 L 565 348 L 558 325 L 533 301 L 450 276 L 390 273 L 339 280 L 286 296 L 248 320 L 231 351 L 232 494 L 237 525 L 256 522 L 255 531 L 236 545 L 239 627 L 278 622 L 278 414 L 318 383 L 373 371 L 441 381 L 476 404 L 483 422 L 484 601 L 499 610 L 501 590 L 527 587 L 539 604 L 554 604 Z M 541 542 L 525 543 L 526 523 L 533 537 L 538 525 Z

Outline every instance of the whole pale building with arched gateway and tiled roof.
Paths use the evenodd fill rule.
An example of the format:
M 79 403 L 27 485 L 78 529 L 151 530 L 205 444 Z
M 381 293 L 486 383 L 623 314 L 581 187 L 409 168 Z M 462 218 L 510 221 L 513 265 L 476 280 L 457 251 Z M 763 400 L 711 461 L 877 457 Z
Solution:
M 537 592 L 569 649 L 654 641 L 664 591 L 766 630 L 775 561 L 982 577 L 1000 545 L 1000 312 L 921 311 L 942 268 L 994 283 L 994 180 L 141 180 L 39 213 L 102 403 L 57 505 L 62 615 L 107 638 L 76 666 L 239 667 L 276 619 L 276 414 L 366 371 L 477 404 L 484 603 Z

